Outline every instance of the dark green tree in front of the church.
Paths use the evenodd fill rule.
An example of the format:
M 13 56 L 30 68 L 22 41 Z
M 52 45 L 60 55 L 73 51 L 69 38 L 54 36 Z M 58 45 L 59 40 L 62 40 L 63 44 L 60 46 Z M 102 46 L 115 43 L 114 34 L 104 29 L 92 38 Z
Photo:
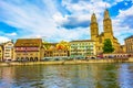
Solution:
M 112 46 L 111 40 L 104 40 L 103 53 L 112 53 L 114 52 L 114 47 Z

